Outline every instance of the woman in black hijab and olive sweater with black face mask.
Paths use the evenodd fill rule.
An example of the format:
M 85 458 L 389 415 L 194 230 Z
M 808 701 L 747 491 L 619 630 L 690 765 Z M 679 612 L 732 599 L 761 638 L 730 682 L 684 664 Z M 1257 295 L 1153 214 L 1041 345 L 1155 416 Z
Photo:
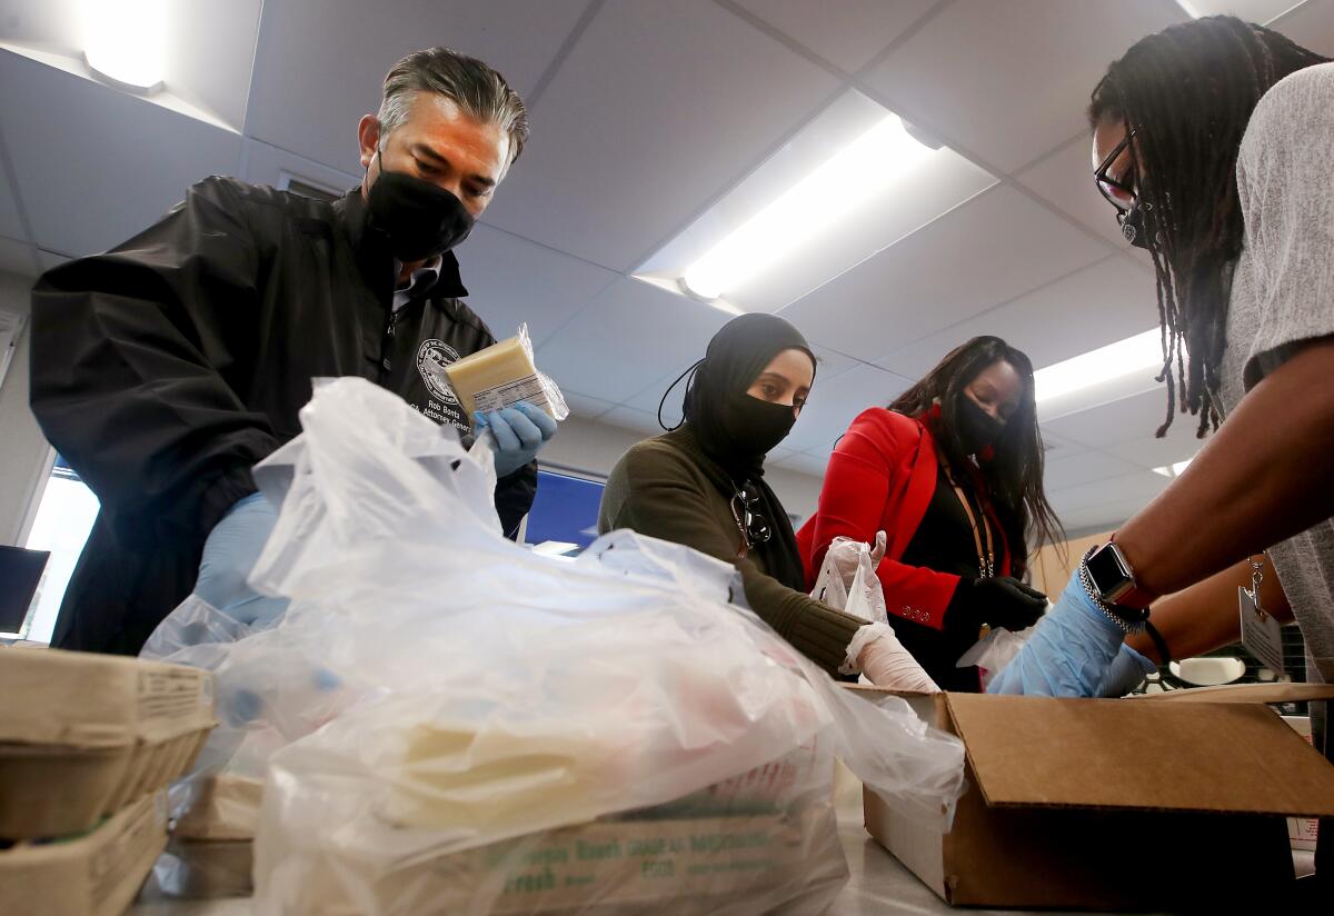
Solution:
M 764 483 L 764 456 L 791 431 L 815 380 L 806 339 L 780 317 L 743 315 L 714 336 L 692 372 L 684 421 L 626 452 L 607 480 L 598 529 L 631 528 L 735 564 L 750 607 L 794 648 L 831 675 L 862 671 L 890 683 L 903 649 L 874 629 L 859 637 L 864 620 L 806 593 L 792 525 Z

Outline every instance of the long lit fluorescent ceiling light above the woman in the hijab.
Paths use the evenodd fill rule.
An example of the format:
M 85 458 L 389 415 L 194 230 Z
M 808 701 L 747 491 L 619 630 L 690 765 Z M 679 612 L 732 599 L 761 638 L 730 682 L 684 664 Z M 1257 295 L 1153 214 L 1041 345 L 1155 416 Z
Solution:
M 935 152 L 888 115 L 724 236 L 686 269 L 683 287 L 704 300 L 726 296 L 903 181 Z

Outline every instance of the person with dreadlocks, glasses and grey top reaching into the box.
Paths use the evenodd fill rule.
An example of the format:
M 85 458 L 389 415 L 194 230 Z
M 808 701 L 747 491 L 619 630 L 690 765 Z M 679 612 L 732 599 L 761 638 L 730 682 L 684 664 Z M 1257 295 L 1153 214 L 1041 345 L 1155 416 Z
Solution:
M 1201 19 L 1131 47 L 1089 116 L 1098 187 L 1158 276 L 1167 421 L 1179 401 L 1213 435 L 1086 556 L 991 689 L 1087 695 L 1127 632 L 1163 664 L 1235 643 L 1243 617 L 1263 620 L 1231 604 L 1263 551 L 1277 577 L 1255 588 L 1259 605 L 1295 616 L 1309 680 L 1331 683 L 1334 63 L 1259 25 Z M 1163 595 L 1155 639 L 1145 624 Z M 1313 724 L 1329 752 L 1323 705 Z M 1331 841 L 1326 821 L 1325 881 Z

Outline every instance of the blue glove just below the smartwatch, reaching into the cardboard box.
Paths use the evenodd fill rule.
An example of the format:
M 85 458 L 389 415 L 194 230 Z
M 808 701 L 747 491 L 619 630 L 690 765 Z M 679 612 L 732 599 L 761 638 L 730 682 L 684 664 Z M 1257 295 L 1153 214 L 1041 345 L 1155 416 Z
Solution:
M 1014 657 L 991 680 L 987 693 L 1099 696 L 1126 633 L 1071 576 L 1057 605 L 1047 611 Z

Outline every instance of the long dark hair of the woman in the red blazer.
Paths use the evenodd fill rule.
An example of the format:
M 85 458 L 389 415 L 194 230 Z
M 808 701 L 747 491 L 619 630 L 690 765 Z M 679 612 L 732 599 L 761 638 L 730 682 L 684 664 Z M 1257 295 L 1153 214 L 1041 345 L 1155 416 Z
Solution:
M 990 460 L 979 461 L 978 469 L 987 485 L 987 496 L 998 509 L 1006 541 L 1010 544 L 1014 575 L 1027 571 L 1030 527 L 1034 547 L 1042 543 L 1058 544 L 1065 531 L 1042 488 L 1042 465 L 1046 449 L 1038 429 L 1038 408 L 1034 399 L 1033 361 L 999 337 L 974 337 L 946 353 L 940 363 L 920 381 L 899 395 L 891 411 L 918 417 L 926 423 L 935 439 L 936 449 L 954 468 L 971 467 L 967 449 L 959 435 L 964 389 L 983 369 L 994 363 L 1009 363 L 1023 379 L 1019 407 L 1010 416 L 992 445 Z M 939 405 L 939 411 L 934 409 Z

